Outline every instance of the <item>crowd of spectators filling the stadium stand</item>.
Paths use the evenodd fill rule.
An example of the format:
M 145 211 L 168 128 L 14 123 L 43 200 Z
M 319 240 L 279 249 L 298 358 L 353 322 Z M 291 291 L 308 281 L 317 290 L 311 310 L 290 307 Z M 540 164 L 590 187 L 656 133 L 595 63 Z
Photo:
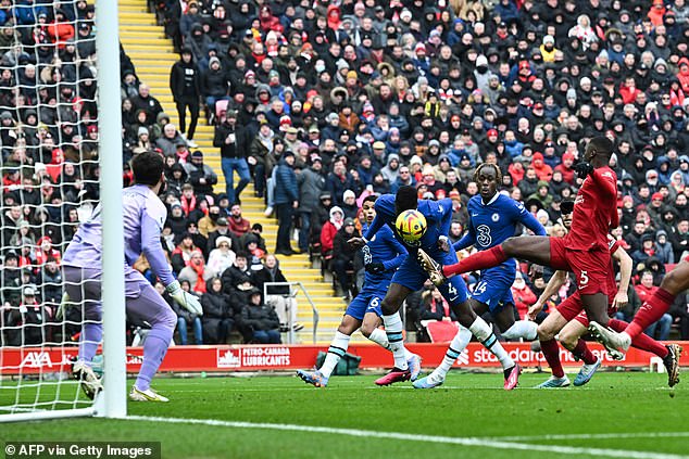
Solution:
M 0 8 L 3 304 L 28 303 L 17 289 L 33 282 L 42 285 L 34 292 L 41 301 L 57 304 L 45 277 L 60 276 L 78 204 L 98 199 L 95 50 L 84 40 L 92 9 L 80 0 L 43 14 L 35 5 L 27 18 L 24 3 L 32 4 Z M 125 161 L 141 149 L 165 155 L 163 246 L 204 305 L 200 320 L 178 313 L 181 342 L 187 329 L 223 342 L 233 328 L 245 341 L 274 340 L 276 318 L 260 293 L 281 273 L 261 226 L 241 216 L 250 181 L 278 219 L 275 253 L 295 253 L 298 228 L 299 252 L 321 256 L 351 297 L 351 272 L 362 266 L 346 241 L 361 230 L 366 195 L 412 184 L 419 197 L 451 197 L 454 241 L 478 192 L 476 166 L 496 163 L 502 191 L 551 234 L 564 234 L 560 203 L 579 186 L 573 165 L 587 139 L 605 135 L 616 146 L 622 216 L 613 235 L 635 260 L 621 316 L 628 320 L 687 251 L 685 0 L 159 0 L 151 8 L 180 54 L 170 73 L 179 126 L 123 51 L 123 153 Z M 215 125 L 224 193 L 214 192 L 217 176 L 193 142 L 202 112 Z M 522 270 L 521 316 L 551 275 Z M 573 290 L 569 282 L 551 306 Z M 417 292 L 408 302 L 408 328 L 449 316 L 437 296 Z M 689 339 L 686 295 L 649 332 L 666 339 L 673 324 Z

